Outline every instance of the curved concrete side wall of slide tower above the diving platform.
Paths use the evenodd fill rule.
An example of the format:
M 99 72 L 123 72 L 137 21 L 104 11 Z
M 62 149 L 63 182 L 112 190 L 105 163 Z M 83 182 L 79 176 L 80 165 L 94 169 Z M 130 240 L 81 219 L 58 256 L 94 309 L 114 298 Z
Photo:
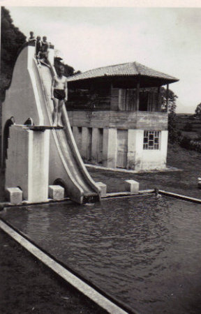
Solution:
M 6 91 L 6 98 L 2 103 L 2 162 L 4 127 L 10 117 L 14 117 L 16 124 L 24 124 L 29 117 L 34 120 L 34 124 L 43 124 L 43 112 L 33 73 L 34 53 L 33 46 L 24 47 L 20 53 L 15 63 L 10 88 Z

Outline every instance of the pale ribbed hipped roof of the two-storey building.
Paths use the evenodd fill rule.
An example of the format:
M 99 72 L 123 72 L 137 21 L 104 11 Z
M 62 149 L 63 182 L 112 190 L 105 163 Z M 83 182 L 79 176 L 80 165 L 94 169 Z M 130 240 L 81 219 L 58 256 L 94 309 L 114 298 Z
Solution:
M 73 75 L 68 77 L 68 82 L 77 80 L 88 80 L 95 77 L 115 77 L 115 76 L 137 76 L 143 75 L 147 77 L 157 77 L 159 79 L 170 80 L 177 82 L 178 79 L 167 75 L 165 73 L 158 72 L 147 66 L 143 66 L 137 62 L 122 63 L 114 66 L 104 66 L 103 68 L 95 68 L 94 70 L 88 70 L 84 73 Z

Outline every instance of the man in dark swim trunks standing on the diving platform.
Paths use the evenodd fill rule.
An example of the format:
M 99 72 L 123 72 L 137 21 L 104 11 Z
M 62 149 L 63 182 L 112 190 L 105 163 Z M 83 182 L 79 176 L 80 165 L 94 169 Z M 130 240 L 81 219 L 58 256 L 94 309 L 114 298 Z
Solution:
M 60 65 L 58 75 L 55 75 L 52 80 L 51 99 L 54 102 L 54 110 L 52 112 L 53 126 L 62 126 L 61 110 L 64 101 L 68 99 L 67 81 L 64 76 L 64 66 Z

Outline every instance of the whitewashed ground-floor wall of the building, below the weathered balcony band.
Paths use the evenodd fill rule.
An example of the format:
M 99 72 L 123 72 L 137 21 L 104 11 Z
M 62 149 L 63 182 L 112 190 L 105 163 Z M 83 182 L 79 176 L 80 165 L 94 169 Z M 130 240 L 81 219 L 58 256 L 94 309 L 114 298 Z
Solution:
M 76 136 L 77 128 L 73 127 L 75 141 L 80 142 Z M 101 136 L 100 128 L 92 128 L 91 156 L 89 158 L 89 128 L 82 128 L 82 146 L 80 154 L 86 162 L 102 164 L 105 167 L 118 167 L 121 154 L 126 151 L 127 156 L 124 167 L 133 170 L 162 170 L 166 167 L 168 149 L 168 130 L 162 130 L 160 136 L 159 149 L 143 149 L 144 130 L 128 129 L 126 138 L 119 141 L 117 128 L 103 128 Z M 100 142 L 103 145 L 103 154 L 100 155 Z M 125 145 L 124 147 L 122 144 Z M 79 144 L 80 145 L 80 144 Z M 120 146 L 119 146 L 120 145 Z M 121 165 L 121 167 L 123 167 Z

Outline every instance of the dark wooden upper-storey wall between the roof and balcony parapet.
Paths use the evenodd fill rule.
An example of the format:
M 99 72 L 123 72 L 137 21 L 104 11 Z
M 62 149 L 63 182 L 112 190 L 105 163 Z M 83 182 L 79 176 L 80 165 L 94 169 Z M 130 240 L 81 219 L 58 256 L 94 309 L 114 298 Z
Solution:
M 140 111 L 160 112 L 158 88 L 140 89 Z M 136 111 L 136 89 L 119 89 L 109 84 L 90 89 L 69 89 L 67 110 L 121 110 Z

